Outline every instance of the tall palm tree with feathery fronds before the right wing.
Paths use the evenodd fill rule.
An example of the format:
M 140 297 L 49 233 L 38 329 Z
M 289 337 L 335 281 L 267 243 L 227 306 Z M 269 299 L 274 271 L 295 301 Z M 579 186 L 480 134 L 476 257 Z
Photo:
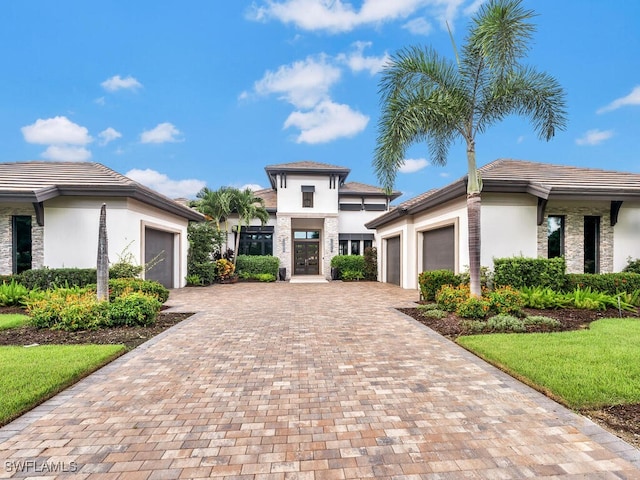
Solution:
M 425 141 L 432 163 L 445 165 L 449 146 L 467 149 L 467 215 L 471 294 L 480 288 L 480 192 L 476 168 L 478 133 L 508 115 L 528 117 L 540 138 L 550 140 L 566 125 L 565 94 L 546 73 L 520 63 L 528 50 L 534 16 L 521 0 L 490 0 L 472 18 L 466 44 L 455 61 L 431 48 L 395 54 L 380 81 L 382 114 L 373 165 L 393 188 L 406 149 Z M 453 42 L 453 38 L 452 38 Z

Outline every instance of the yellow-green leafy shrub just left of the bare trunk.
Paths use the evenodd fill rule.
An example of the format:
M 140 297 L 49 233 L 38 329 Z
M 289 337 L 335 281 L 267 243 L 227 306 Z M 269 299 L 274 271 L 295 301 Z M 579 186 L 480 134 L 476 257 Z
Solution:
M 59 288 L 27 304 L 36 328 L 92 330 L 109 325 L 109 304 L 99 302 L 91 289 Z

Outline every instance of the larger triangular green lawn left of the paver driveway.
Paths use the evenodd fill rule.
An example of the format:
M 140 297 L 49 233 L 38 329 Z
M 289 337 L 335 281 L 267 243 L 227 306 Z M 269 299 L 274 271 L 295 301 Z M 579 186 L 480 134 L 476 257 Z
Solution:
M 0 425 L 124 353 L 124 345 L 0 347 Z

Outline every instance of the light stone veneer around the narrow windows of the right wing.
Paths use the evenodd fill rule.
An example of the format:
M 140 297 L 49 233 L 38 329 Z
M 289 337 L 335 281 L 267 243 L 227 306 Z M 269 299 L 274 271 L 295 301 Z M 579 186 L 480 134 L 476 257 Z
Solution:
M 584 217 L 600 217 L 600 273 L 613 272 L 613 227 L 608 206 L 547 206 L 538 225 L 538 256 L 547 258 L 547 217 L 564 216 L 564 257 L 567 273 L 584 273 Z

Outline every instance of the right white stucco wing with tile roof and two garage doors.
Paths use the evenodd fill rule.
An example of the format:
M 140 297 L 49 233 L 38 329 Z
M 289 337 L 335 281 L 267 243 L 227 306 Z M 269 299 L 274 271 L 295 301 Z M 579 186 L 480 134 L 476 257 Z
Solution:
M 640 257 L 640 174 L 496 160 L 483 181 L 481 265 L 494 258 L 564 256 L 569 273 L 622 270 Z M 469 265 L 466 177 L 369 221 L 378 278 L 418 288 L 422 271 Z

